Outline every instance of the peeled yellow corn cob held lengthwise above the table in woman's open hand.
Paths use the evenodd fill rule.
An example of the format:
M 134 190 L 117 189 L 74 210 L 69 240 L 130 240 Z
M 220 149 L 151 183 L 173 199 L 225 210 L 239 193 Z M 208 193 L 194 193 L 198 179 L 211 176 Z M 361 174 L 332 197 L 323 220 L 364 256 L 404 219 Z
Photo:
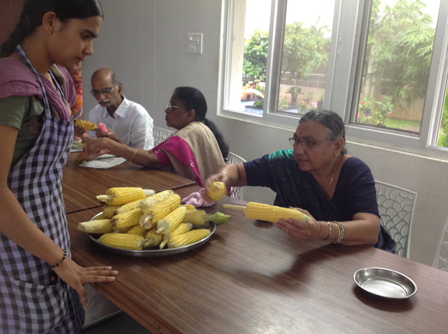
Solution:
M 286 207 L 276 207 L 275 205 L 262 204 L 257 202 L 248 202 L 245 207 L 240 205 L 222 205 L 224 209 L 236 209 L 245 212 L 246 218 L 258 219 L 260 221 L 270 221 L 277 223 L 279 219 L 294 218 L 299 221 L 309 221 L 310 218 L 306 214 L 295 209 Z

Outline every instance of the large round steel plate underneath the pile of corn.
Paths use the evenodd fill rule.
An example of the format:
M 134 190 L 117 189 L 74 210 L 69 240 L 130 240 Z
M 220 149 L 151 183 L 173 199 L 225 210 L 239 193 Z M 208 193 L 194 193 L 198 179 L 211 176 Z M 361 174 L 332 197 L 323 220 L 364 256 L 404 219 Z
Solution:
M 99 214 L 93 216 L 93 219 L 100 216 L 102 212 Z M 213 233 L 215 233 L 216 225 L 213 224 L 210 228 L 210 234 L 208 234 L 207 237 L 203 238 L 202 240 L 199 240 L 195 242 L 194 244 L 183 246 L 183 247 L 177 247 L 177 248 L 167 248 L 167 249 L 148 249 L 148 250 L 128 250 L 128 249 L 122 249 L 122 248 L 116 248 L 112 246 L 107 246 L 105 244 L 101 244 L 100 241 L 98 241 L 98 238 L 100 237 L 100 234 L 88 234 L 88 238 L 91 239 L 95 244 L 98 246 L 105 248 L 111 253 L 116 253 L 120 255 L 129 255 L 134 257 L 162 257 L 162 256 L 169 256 L 169 255 L 176 255 L 180 253 L 188 252 L 189 250 L 193 250 L 194 248 L 198 248 L 199 246 L 202 246 L 205 244 L 210 237 L 212 237 Z

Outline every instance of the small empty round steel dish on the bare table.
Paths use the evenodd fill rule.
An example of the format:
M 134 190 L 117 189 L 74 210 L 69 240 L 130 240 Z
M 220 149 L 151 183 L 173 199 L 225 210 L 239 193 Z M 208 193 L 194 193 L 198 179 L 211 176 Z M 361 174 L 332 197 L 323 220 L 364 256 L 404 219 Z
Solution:
M 385 268 L 360 269 L 353 280 L 366 292 L 391 299 L 409 298 L 417 292 L 417 285 L 408 276 Z

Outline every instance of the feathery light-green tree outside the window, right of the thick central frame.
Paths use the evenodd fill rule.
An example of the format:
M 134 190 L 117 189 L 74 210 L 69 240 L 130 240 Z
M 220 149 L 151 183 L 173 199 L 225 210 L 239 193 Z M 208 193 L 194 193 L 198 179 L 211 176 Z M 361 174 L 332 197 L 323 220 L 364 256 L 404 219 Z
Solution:
M 364 74 L 376 87 L 375 100 L 387 93 L 410 103 L 426 94 L 435 31 L 425 7 L 420 0 L 373 1 Z

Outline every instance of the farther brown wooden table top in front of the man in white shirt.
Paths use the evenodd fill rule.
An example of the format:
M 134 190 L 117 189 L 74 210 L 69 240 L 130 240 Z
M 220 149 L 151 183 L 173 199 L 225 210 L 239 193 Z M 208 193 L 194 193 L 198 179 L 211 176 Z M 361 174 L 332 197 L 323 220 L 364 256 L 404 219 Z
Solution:
M 62 191 L 65 212 L 101 207 L 95 196 L 102 195 L 113 186 L 139 186 L 162 191 L 197 184 L 194 180 L 158 169 L 149 169 L 125 161 L 109 169 L 79 166 L 88 159 L 84 152 L 71 152 L 63 168 Z

